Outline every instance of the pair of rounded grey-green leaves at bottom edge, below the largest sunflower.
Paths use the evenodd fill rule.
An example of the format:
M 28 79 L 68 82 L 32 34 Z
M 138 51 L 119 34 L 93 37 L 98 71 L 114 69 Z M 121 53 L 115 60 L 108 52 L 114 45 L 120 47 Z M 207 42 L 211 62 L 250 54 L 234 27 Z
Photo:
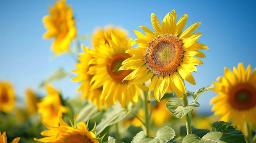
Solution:
M 134 136 L 131 143 L 167 143 L 175 136 L 175 132 L 170 127 L 162 127 L 157 130 L 156 137 L 146 136 L 144 131 Z

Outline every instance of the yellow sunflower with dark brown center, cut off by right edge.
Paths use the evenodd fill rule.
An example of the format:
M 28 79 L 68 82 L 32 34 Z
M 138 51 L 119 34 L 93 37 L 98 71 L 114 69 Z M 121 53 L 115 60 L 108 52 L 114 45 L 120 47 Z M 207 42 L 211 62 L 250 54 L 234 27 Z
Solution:
M 242 130 L 244 123 L 256 128 L 256 68 L 251 74 L 251 65 L 245 67 L 243 63 L 238 68 L 224 68 L 224 77 L 218 77 L 219 82 L 213 82 L 216 88 L 212 90 L 219 95 L 211 99 L 214 104 L 212 111 L 220 114 L 220 121 L 229 122 Z

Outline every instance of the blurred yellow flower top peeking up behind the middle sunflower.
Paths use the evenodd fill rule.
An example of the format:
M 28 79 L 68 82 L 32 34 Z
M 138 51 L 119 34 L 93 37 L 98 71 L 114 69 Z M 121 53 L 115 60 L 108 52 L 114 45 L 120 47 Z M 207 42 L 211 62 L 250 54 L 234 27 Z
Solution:
M 106 44 L 108 40 L 106 37 L 111 39 L 111 33 L 117 35 L 119 40 L 123 41 L 127 39 L 128 32 L 121 28 L 114 28 L 110 25 L 106 26 L 104 29 L 98 28 L 92 35 L 92 44 L 94 47 L 99 46 L 99 44 Z M 106 35 L 105 35 L 106 34 Z

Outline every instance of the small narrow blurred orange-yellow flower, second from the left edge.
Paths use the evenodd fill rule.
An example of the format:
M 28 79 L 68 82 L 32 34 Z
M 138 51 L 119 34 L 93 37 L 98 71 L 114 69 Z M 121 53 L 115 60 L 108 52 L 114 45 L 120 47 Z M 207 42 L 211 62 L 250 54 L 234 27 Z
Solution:
M 38 103 L 38 97 L 36 97 L 31 89 L 27 89 L 26 99 L 27 114 L 35 114 L 37 111 L 36 103 Z

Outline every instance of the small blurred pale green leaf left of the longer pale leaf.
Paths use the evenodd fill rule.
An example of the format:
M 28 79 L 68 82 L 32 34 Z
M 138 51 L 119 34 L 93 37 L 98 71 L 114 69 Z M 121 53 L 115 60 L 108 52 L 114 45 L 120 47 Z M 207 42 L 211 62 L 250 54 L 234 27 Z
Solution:
M 97 112 L 99 112 L 97 106 L 94 104 L 86 104 L 76 117 L 76 122 L 87 122 Z

